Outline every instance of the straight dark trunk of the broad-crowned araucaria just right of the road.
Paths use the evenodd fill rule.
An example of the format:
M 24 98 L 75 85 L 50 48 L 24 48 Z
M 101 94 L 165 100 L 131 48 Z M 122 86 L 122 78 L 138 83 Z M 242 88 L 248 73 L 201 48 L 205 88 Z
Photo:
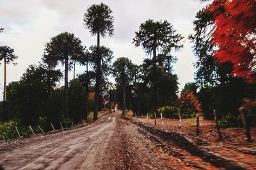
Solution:
M 153 80 L 152 80 L 152 112 L 157 112 L 157 96 L 156 96 L 156 38 L 154 39 L 154 49 L 153 49 Z

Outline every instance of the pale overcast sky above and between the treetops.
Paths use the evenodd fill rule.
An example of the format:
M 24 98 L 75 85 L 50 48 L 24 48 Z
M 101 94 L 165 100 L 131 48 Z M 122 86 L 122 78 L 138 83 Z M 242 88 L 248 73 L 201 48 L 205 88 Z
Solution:
M 106 3 L 113 10 L 115 35 L 101 39 L 102 45 L 113 50 L 113 61 L 127 57 L 140 65 L 147 56 L 143 49 L 132 45 L 134 32 L 147 19 L 168 20 L 185 37 L 184 48 L 174 53 L 179 59 L 174 65 L 179 87 L 193 81 L 195 56 L 188 35 L 193 33 L 196 12 L 205 6 L 199 0 L 0 0 L 0 27 L 4 27 L 0 45 L 9 45 L 19 56 L 17 66 L 7 67 L 7 82 L 18 81 L 29 65 L 37 65 L 45 43 L 63 31 L 74 33 L 86 47 L 96 44 L 97 37 L 83 27 L 84 12 L 95 3 Z M 83 71 L 82 66 L 77 68 L 77 73 Z M 69 76 L 72 77 L 72 72 Z M 0 84 L 2 92 L 3 65 L 0 65 Z

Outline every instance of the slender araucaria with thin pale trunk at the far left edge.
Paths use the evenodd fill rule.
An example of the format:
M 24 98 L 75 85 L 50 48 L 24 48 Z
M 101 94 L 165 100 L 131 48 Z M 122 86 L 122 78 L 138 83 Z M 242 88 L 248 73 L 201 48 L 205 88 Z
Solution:
M 8 46 L 0 46 L 0 61 L 4 60 L 4 101 L 6 101 L 6 64 L 13 63 L 18 56 L 14 54 L 14 50 Z

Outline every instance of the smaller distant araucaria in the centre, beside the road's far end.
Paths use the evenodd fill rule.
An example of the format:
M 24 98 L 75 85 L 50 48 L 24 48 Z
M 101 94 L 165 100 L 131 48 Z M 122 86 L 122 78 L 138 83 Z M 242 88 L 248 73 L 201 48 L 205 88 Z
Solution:
M 128 58 L 118 58 L 113 63 L 113 75 L 116 82 L 122 84 L 123 101 L 122 101 L 122 114 L 125 116 L 125 86 L 131 81 L 132 61 Z

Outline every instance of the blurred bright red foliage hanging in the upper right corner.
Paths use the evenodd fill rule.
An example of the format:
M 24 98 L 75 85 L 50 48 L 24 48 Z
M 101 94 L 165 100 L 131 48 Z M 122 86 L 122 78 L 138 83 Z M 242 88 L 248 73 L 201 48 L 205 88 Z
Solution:
M 205 12 L 213 13 L 212 45 L 218 62 L 230 61 L 236 77 L 256 82 L 256 1 L 214 0 Z

